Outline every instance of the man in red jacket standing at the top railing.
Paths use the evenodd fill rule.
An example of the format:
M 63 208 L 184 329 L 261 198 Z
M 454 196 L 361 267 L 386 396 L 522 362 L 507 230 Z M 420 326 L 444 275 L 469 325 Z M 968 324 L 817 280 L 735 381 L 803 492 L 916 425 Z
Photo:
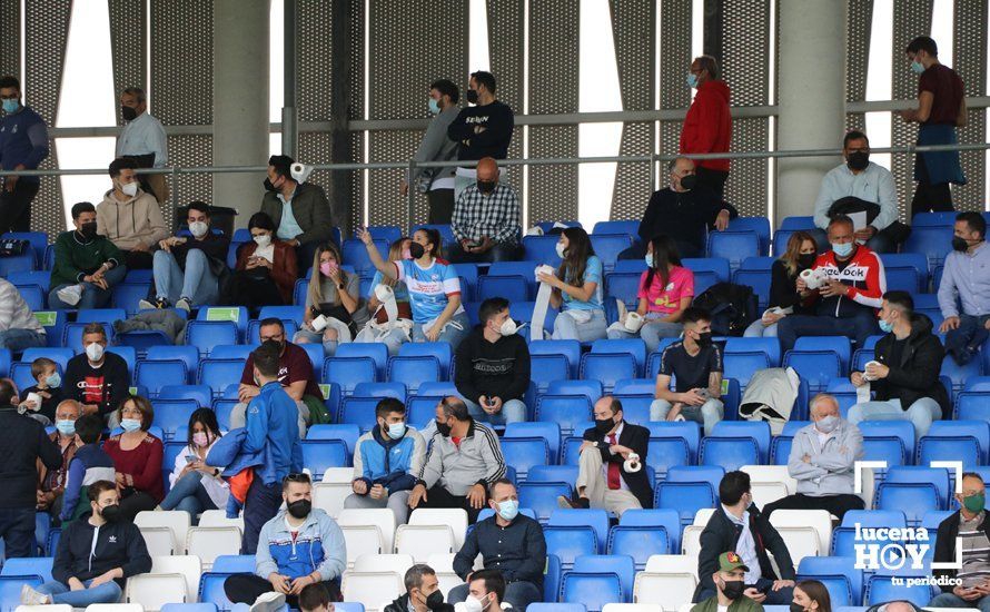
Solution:
M 725 152 L 732 139 L 729 86 L 719 80 L 719 63 L 712 56 L 691 62 L 687 86 L 697 88 L 681 128 L 681 155 Z M 697 182 L 707 185 L 720 198 L 729 178 L 727 159 L 696 159 Z

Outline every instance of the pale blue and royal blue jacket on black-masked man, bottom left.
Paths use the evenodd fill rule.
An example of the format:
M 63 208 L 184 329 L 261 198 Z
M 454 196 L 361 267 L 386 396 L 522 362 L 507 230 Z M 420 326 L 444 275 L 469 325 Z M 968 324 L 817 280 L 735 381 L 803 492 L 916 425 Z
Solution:
M 285 510 L 261 526 L 255 574 L 267 580 L 273 572 L 278 572 L 295 580 L 318 570 L 320 580 L 326 582 L 339 581 L 346 569 L 344 532 L 323 510 L 315 507 L 309 512 L 295 542 L 286 525 Z

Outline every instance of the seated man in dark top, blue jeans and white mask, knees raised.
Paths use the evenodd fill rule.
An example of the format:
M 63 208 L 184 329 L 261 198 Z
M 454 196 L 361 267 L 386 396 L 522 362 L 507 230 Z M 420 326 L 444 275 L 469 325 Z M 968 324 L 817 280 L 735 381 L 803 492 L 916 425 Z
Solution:
M 168 308 L 175 304 L 188 313 L 194 306 L 216 304 L 220 278 L 228 274 L 230 240 L 210 229 L 206 203 L 189 204 L 186 224 L 191 237 L 171 236 L 158 243 L 151 268 L 155 302 L 142 299 L 141 308 Z

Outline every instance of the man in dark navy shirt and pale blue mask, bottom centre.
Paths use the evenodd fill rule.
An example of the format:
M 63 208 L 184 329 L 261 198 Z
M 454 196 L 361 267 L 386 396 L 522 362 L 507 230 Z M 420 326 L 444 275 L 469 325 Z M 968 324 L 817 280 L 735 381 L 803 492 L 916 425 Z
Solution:
M 454 572 L 465 583 L 451 589 L 447 599 L 451 603 L 467 599 L 469 583 L 477 575 L 474 571 L 475 557 L 481 554 L 483 571 L 501 573 L 505 579 L 505 592 L 498 595 L 498 601 L 505 601 L 517 610 L 526 610 L 531 603 L 543 600 L 543 570 L 546 565 L 543 530 L 539 523 L 519 514 L 519 495 L 512 481 L 495 481 L 488 488 L 488 505 L 495 514 L 475 525 L 454 556 Z

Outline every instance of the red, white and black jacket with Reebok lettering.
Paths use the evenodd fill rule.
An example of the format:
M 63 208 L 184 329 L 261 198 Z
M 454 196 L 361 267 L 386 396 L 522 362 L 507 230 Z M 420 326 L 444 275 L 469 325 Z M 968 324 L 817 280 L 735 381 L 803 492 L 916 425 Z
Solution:
M 863 308 L 879 309 L 887 293 L 887 275 L 880 256 L 864 245 L 859 245 L 852 258 L 842 267 L 835 260 L 835 253 L 828 250 L 814 260 L 814 268 L 822 268 L 830 280 L 839 280 L 850 287 L 848 296 L 821 297 L 815 292 L 805 304 L 818 300 L 816 312 L 822 317 L 847 318 L 855 316 Z

